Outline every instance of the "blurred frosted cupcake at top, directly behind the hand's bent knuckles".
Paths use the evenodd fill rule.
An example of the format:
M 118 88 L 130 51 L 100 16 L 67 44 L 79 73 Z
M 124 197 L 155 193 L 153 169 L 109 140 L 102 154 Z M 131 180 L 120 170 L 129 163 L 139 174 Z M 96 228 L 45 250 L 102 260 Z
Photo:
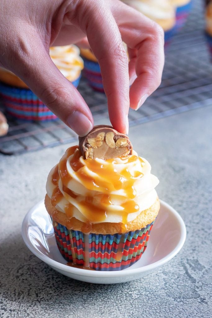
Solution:
M 175 8 L 169 0 L 122 0 L 157 22 L 164 30 L 165 46 L 175 33 Z

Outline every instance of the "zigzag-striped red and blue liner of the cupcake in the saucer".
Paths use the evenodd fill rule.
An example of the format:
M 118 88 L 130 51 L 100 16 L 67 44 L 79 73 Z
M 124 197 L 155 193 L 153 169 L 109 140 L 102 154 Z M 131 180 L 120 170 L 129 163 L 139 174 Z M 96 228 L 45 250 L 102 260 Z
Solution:
M 56 242 L 67 262 L 99 271 L 119 271 L 137 262 L 147 247 L 154 221 L 145 228 L 125 234 L 84 234 L 54 226 Z

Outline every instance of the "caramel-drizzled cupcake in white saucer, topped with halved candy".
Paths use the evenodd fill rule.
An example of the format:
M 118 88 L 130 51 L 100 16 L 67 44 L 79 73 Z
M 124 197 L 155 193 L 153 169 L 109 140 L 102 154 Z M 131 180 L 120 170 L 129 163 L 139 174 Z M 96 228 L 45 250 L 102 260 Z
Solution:
M 49 173 L 45 206 L 67 265 L 113 271 L 140 259 L 160 209 L 150 171 L 110 126 L 66 150 Z

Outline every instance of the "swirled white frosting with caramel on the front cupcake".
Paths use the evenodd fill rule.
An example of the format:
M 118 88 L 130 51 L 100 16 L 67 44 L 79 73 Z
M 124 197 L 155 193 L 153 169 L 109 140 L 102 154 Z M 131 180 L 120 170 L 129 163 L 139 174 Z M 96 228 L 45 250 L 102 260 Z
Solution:
M 110 160 L 83 159 L 81 156 L 78 159 L 81 168 L 78 170 L 73 169 L 73 154 L 69 155 L 67 151 L 60 160 L 65 168 L 62 168 L 62 164 L 59 163 L 59 168 L 55 166 L 51 169 L 46 183 L 47 195 L 50 198 L 57 186 L 62 193 L 62 198 L 55 205 L 57 210 L 66 213 L 65 208 L 71 204 L 72 217 L 83 222 L 88 220 L 91 223 L 124 223 L 123 214 L 125 214 L 127 223 L 154 204 L 157 198 L 154 188 L 159 180 L 151 174 L 149 162 L 139 157 L 135 151 L 131 156 Z M 55 184 L 52 180 L 55 180 L 53 176 L 57 170 L 59 175 Z M 63 176 L 65 174 L 68 182 L 64 190 Z M 73 196 L 68 194 L 67 188 L 71 190 Z M 87 212 L 85 208 L 88 202 L 89 210 L 91 201 L 91 210 L 97 209 L 96 214 L 92 211 Z M 99 220 L 98 209 L 103 215 L 101 220 Z

